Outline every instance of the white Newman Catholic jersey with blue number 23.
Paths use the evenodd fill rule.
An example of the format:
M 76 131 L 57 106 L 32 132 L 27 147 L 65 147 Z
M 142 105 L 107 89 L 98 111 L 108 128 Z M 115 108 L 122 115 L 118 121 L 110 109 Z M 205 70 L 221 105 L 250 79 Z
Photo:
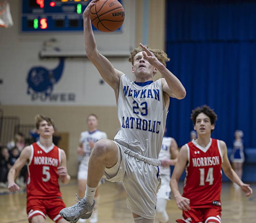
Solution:
M 117 103 L 121 125 L 115 141 L 148 158 L 158 158 L 167 110 L 161 80 L 137 83 L 121 76 Z

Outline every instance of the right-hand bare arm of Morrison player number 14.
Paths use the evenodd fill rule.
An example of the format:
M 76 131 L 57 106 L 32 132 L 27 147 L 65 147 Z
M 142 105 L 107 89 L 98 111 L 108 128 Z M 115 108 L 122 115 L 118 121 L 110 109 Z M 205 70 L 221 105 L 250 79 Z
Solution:
M 236 174 L 236 172 L 232 169 L 229 160 L 228 160 L 228 152 L 227 152 L 227 146 L 224 141 L 220 140 L 220 148 L 223 155 L 223 163 L 221 165 L 225 175 L 232 180 L 234 183 L 239 185 L 241 187 L 242 191 L 244 191 L 246 196 L 252 195 L 252 188 L 249 184 L 245 184 Z

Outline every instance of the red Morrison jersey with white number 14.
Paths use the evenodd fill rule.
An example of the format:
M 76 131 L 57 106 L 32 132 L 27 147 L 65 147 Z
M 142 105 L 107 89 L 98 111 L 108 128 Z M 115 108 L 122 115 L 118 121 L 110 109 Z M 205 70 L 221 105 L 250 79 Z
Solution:
M 189 162 L 182 196 L 190 199 L 192 208 L 220 206 L 223 157 L 219 140 L 211 139 L 205 148 L 193 140 L 186 147 Z

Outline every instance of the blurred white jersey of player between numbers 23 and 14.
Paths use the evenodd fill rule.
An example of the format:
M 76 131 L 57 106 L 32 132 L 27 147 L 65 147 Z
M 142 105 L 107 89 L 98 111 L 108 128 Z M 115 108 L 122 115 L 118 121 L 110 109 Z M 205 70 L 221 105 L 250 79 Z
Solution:
M 171 146 L 172 138 L 171 137 L 164 137 L 163 143 L 161 147 L 161 151 L 158 155 L 158 159 L 160 162 L 165 159 L 171 159 L 170 154 L 170 146 Z M 162 165 L 159 166 L 159 171 L 161 175 L 169 175 L 171 176 L 171 169 L 170 166 L 163 167 Z

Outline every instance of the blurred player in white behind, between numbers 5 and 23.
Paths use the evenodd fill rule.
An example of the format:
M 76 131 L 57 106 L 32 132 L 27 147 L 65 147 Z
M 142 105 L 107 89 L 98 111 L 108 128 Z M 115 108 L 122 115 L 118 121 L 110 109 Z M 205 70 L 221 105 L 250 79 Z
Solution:
M 89 158 L 92 153 L 92 148 L 94 144 L 100 139 L 108 139 L 106 132 L 98 130 L 98 117 L 94 114 L 87 116 L 87 127 L 88 131 L 83 131 L 81 133 L 79 147 L 77 148 L 77 154 L 81 156 L 81 162 L 78 169 L 77 179 L 78 179 L 78 196 L 84 197 L 88 163 Z M 101 184 L 101 181 L 100 181 Z M 90 223 L 96 223 L 98 221 L 98 209 L 97 204 L 99 203 L 99 191 L 96 190 L 95 193 L 95 206 L 92 212 L 92 217 L 90 218 Z M 79 219 L 79 222 L 85 222 L 85 219 Z

